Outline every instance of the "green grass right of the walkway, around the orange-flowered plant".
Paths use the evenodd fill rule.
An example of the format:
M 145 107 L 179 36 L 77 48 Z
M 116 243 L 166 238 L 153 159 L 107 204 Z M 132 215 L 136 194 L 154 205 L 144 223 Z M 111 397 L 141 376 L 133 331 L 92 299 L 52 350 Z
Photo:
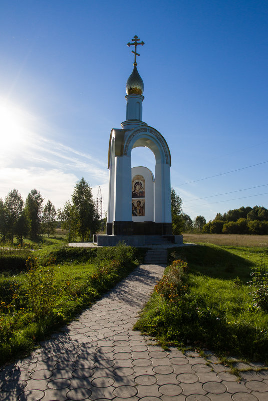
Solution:
M 169 262 L 187 262 L 172 299 L 156 286 L 135 328 L 165 346 L 208 348 L 223 357 L 268 360 L 267 309 L 254 305 L 247 281 L 268 266 L 268 249 L 199 244 L 173 248 Z M 168 276 L 170 267 L 165 271 Z M 161 287 L 161 286 L 160 286 Z M 268 299 L 267 299 L 268 306 Z

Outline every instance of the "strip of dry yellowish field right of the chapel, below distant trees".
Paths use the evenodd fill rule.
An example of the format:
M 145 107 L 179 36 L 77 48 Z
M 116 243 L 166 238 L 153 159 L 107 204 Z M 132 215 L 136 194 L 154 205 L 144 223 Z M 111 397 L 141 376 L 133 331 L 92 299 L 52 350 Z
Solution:
M 184 243 L 207 243 L 230 246 L 257 246 L 268 247 L 268 235 L 242 235 L 242 234 L 183 234 Z

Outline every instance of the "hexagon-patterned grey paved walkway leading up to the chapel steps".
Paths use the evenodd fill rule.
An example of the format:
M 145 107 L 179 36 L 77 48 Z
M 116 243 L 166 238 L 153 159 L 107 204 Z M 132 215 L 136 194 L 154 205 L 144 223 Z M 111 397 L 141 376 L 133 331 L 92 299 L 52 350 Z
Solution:
M 238 383 L 213 355 L 209 366 L 132 330 L 163 271 L 139 266 L 28 358 L 3 367 L 0 401 L 267 401 L 267 371 Z

